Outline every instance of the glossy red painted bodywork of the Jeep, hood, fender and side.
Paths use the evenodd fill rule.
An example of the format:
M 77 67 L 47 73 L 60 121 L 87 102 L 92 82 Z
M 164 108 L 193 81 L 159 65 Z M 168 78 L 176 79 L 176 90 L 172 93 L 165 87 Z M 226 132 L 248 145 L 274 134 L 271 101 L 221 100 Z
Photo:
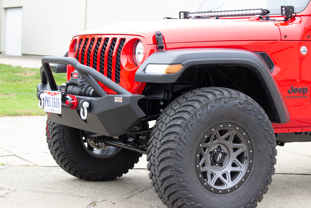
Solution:
M 270 16 L 270 19 L 272 18 L 284 20 L 284 17 L 280 16 Z M 301 52 L 303 46 L 311 50 L 310 4 L 289 21 L 264 21 L 256 17 L 142 21 L 86 30 L 77 36 L 97 37 L 98 34 L 107 34 L 107 37 L 125 37 L 126 43 L 121 55 L 120 85 L 131 93 L 140 94 L 145 83 L 134 81 L 138 66 L 129 61 L 132 56 L 131 40 L 142 40 L 145 48 L 144 61 L 156 51 L 155 31 L 161 31 L 163 34 L 164 50 L 213 47 L 266 52 L 275 64 L 272 76 L 290 113 L 290 122 L 273 123 L 275 133 L 311 131 L 311 54 L 307 52 L 303 55 Z M 73 57 L 73 54 L 69 52 L 69 56 Z M 70 68 L 68 72 L 71 72 Z M 308 92 L 303 95 L 299 92 L 289 93 L 292 85 L 297 89 L 308 88 Z M 111 92 L 109 89 L 105 90 Z

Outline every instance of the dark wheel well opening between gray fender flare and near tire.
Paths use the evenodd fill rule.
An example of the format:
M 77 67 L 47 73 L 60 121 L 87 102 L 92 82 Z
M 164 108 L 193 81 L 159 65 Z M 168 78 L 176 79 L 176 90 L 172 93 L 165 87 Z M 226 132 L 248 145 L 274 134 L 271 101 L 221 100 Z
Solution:
M 256 73 L 246 66 L 236 65 L 194 65 L 189 66 L 175 82 L 177 86 L 223 87 L 238 90 L 253 98 L 267 113 L 271 122 L 276 122 L 273 106 Z M 190 89 L 189 89 L 190 90 Z M 173 97 L 185 90 L 173 88 Z M 175 96 L 174 96 L 175 95 Z M 178 97 L 177 96 L 177 97 Z

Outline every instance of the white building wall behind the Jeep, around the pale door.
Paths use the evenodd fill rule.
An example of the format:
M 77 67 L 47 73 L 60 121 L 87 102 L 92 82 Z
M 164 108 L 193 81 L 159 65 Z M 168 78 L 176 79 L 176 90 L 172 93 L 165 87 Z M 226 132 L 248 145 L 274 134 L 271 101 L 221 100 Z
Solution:
M 178 18 L 202 0 L 0 0 L 0 52 L 5 52 L 6 8 L 23 7 L 21 53 L 56 56 L 75 33 L 115 22 Z

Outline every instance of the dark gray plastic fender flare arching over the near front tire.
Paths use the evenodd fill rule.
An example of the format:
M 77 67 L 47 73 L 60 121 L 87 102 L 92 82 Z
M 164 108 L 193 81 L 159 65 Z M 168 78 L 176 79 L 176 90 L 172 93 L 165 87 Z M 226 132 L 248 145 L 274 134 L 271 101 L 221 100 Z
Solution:
M 182 64 L 183 68 L 175 74 L 145 73 L 148 64 Z M 191 48 L 173 49 L 152 53 L 138 68 L 136 82 L 174 83 L 190 66 L 195 65 L 234 65 L 245 66 L 253 70 L 262 83 L 277 123 L 290 121 L 290 114 L 281 96 L 274 77 L 264 61 L 254 52 L 232 48 Z

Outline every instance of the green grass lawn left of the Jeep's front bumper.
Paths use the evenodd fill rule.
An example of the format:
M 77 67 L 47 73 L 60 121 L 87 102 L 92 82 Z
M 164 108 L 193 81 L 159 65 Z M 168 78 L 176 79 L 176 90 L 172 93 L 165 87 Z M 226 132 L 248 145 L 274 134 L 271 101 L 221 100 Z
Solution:
M 53 73 L 56 84 L 66 82 L 66 73 Z M 0 116 L 46 115 L 38 107 L 40 70 L 0 64 Z

